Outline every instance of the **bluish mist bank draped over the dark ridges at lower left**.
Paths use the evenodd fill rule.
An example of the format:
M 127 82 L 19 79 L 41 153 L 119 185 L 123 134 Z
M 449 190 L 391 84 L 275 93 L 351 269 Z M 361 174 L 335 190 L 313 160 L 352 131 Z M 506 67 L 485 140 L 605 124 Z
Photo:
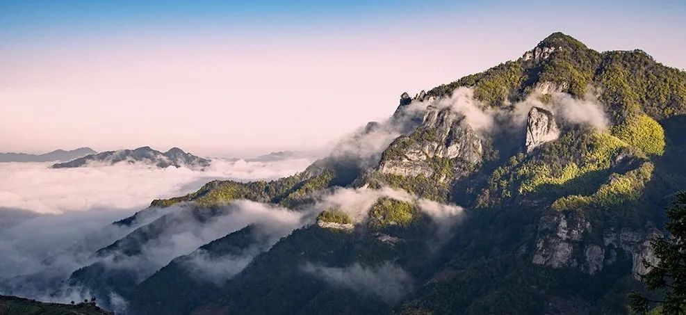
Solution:
M 134 231 L 118 241 L 120 247 L 102 253 L 97 264 L 104 268 L 104 273 L 123 272 L 134 282 L 142 282 L 172 259 L 188 255 L 182 261 L 189 273 L 199 280 L 221 283 L 243 270 L 254 255 L 307 222 L 302 211 L 248 200 L 235 200 L 220 209 L 197 209 L 183 204 L 172 208 L 175 209 L 143 227 L 142 233 Z M 248 225 L 256 227 L 260 238 L 240 255 L 211 256 L 198 250 Z M 70 289 L 65 291 L 79 288 Z M 113 305 L 106 296 L 99 298 L 106 307 Z

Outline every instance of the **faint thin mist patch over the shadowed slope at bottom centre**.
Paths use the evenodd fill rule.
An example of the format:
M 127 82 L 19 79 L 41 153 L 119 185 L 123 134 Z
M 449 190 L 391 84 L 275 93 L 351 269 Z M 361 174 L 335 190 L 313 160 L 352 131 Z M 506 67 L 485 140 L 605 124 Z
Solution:
M 412 277 L 389 262 L 379 266 L 355 263 L 343 268 L 305 264 L 302 270 L 330 284 L 374 294 L 390 305 L 397 303 L 412 288 Z

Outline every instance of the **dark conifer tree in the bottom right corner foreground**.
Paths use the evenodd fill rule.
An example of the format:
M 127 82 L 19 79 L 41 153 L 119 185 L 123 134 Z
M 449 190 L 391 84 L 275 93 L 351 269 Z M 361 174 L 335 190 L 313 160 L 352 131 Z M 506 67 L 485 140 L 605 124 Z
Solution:
M 646 289 L 660 291 L 664 296 L 653 300 L 640 293 L 630 294 L 633 312 L 647 312 L 651 305 L 658 305 L 663 314 L 686 314 L 686 192 L 679 193 L 676 201 L 667 209 L 668 234 L 651 241 L 657 264 L 644 259 L 648 273 L 642 275 Z

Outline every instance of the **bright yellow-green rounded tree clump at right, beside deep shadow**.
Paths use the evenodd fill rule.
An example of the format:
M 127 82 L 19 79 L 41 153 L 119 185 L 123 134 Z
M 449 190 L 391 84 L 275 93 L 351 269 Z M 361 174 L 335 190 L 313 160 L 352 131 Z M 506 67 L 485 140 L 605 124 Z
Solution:
M 645 154 L 664 153 L 664 129 L 648 115 L 628 115 L 612 127 L 612 134 Z

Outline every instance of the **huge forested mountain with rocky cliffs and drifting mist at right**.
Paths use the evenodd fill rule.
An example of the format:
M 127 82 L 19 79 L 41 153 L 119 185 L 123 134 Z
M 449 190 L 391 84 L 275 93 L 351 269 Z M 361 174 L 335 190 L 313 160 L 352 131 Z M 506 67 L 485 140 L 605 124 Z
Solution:
M 686 72 L 553 33 L 303 172 L 154 200 L 66 283 L 126 314 L 627 314 L 685 114 Z

